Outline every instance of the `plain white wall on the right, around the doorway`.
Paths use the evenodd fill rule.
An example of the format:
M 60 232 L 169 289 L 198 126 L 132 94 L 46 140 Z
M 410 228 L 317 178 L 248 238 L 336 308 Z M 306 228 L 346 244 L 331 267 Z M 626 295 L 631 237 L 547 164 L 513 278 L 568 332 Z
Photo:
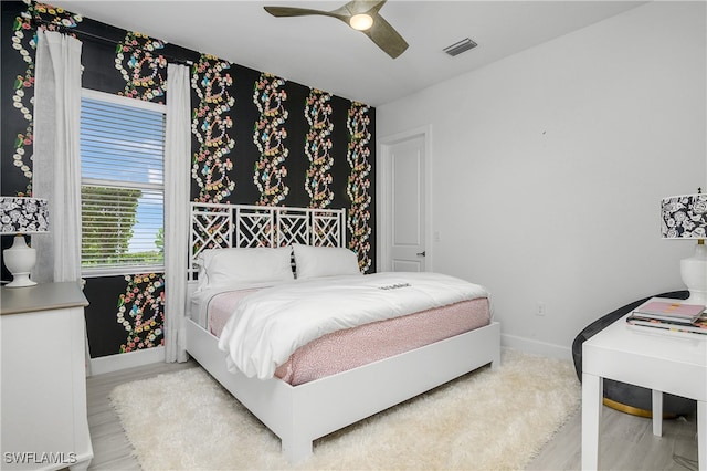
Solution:
M 488 287 L 505 344 L 569 356 L 684 289 L 659 200 L 706 188 L 705 18 L 652 2 L 377 107 L 379 139 L 431 126 L 433 269 Z

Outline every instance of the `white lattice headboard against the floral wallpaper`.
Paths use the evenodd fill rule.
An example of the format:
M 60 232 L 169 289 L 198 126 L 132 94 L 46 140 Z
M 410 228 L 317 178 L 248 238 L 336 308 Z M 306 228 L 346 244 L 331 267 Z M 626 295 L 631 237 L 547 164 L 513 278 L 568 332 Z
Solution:
M 191 203 L 189 280 L 204 249 L 283 247 L 292 243 L 345 247 L 346 209 Z

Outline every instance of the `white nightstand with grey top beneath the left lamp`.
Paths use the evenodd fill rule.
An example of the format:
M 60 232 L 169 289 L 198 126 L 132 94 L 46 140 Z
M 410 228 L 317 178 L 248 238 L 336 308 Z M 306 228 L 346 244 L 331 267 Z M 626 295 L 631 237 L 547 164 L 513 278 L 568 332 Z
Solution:
M 77 283 L 2 287 L 3 470 L 86 469 L 84 306 Z

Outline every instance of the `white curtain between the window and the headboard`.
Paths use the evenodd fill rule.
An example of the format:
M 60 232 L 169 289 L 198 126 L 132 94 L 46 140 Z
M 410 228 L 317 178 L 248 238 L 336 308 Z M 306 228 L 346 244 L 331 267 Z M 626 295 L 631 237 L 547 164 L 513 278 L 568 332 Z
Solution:
M 187 360 L 190 119 L 189 67 L 169 64 L 165 143 L 165 359 L 168 363 Z

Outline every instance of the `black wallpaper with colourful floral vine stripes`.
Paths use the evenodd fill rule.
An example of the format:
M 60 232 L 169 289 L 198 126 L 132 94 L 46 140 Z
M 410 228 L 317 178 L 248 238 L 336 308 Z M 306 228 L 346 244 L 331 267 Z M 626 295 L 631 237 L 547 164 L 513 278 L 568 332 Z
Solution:
M 0 9 L 3 196 L 32 192 L 35 31 L 41 20 L 40 28 L 83 42 L 86 88 L 166 103 L 167 64 L 190 64 L 192 185 L 186 198 L 346 208 L 348 245 L 362 270 L 374 266 L 374 108 L 51 4 L 2 1 Z M 3 247 L 9 242 L 2 238 Z M 163 273 L 86 279 L 92 357 L 163 344 L 169 315 L 163 279 Z

